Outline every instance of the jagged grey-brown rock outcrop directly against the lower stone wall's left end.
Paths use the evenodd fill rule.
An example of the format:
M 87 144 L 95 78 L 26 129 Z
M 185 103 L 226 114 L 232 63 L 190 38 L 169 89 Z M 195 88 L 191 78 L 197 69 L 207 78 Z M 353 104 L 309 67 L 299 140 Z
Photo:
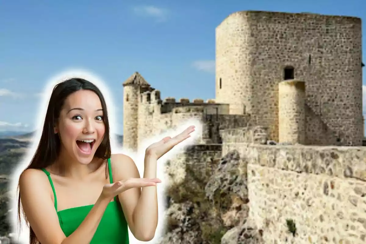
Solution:
M 247 161 L 234 150 L 225 155 L 206 185 L 206 196 L 222 213 L 225 227 L 231 228 L 221 239 L 222 244 L 262 243 L 261 231 L 247 221 L 249 199 L 246 176 Z M 216 202 L 215 202 L 216 203 Z

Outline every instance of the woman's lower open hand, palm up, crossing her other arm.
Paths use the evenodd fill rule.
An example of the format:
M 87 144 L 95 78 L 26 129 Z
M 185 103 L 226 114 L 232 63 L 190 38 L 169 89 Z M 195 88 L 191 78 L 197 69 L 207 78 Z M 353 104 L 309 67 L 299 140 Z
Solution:
M 104 185 L 101 196 L 106 199 L 112 199 L 128 189 L 155 186 L 157 183 L 161 183 L 161 180 L 157 178 L 131 178 L 128 180 L 117 181 L 113 184 Z

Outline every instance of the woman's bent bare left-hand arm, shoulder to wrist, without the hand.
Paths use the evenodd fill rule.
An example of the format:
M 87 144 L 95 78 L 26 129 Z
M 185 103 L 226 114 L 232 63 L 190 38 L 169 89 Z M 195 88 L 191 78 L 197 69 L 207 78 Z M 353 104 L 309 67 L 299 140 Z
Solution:
M 46 174 L 36 169 L 25 170 L 19 178 L 19 191 L 25 215 L 42 244 L 89 244 L 110 202 L 109 199 L 98 199 L 81 225 L 66 238 Z

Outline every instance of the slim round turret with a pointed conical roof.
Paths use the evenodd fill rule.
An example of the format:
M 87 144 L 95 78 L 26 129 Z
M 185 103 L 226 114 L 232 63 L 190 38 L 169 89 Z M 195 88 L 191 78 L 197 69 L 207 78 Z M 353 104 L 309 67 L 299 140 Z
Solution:
M 138 146 L 139 95 L 149 87 L 138 72 L 123 83 L 123 147 L 133 151 Z

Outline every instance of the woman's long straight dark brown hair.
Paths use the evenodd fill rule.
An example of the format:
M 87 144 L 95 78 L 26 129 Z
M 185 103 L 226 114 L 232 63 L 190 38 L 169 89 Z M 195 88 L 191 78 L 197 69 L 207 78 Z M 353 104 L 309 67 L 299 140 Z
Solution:
M 56 161 L 57 157 L 60 153 L 60 139 L 57 134 L 54 133 L 55 123 L 59 119 L 60 111 L 63 108 L 64 102 L 66 98 L 72 93 L 79 90 L 90 90 L 96 93 L 100 99 L 103 109 L 103 122 L 105 125 L 105 134 L 104 138 L 96 150 L 95 156 L 97 158 L 107 159 L 111 157 L 111 143 L 109 140 L 109 122 L 108 122 L 108 114 L 107 114 L 107 105 L 105 104 L 104 97 L 101 91 L 95 86 L 93 83 L 81 79 L 81 78 L 72 78 L 66 81 L 63 81 L 57 84 L 52 91 L 51 98 L 48 103 L 48 108 L 46 112 L 46 117 L 42 129 L 42 135 L 40 142 L 38 143 L 38 147 L 36 153 L 34 154 L 30 164 L 25 169 L 41 169 L 46 168 Z M 105 161 L 106 162 L 106 161 Z M 106 177 L 107 177 L 107 165 L 106 165 Z M 20 190 L 18 184 L 18 220 L 20 224 L 20 215 L 23 214 L 27 224 L 27 217 L 25 216 L 24 210 L 21 210 L 21 201 L 20 201 Z M 39 244 L 39 240 L 36 237 L 31 226 L 30 228 L 30 244 Z

